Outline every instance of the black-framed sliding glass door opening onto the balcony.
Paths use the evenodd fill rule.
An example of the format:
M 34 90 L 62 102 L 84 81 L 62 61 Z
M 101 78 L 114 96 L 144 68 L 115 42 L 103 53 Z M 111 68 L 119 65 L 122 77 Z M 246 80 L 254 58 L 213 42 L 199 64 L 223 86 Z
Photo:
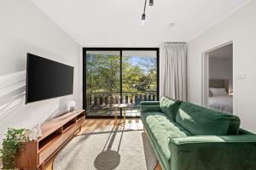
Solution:
M 158 48 L 84 48 L 87 117 L 112 117 L 121 103 L 126 116 L 140 116 L 141 101 L 158 99 L 158 55 Z

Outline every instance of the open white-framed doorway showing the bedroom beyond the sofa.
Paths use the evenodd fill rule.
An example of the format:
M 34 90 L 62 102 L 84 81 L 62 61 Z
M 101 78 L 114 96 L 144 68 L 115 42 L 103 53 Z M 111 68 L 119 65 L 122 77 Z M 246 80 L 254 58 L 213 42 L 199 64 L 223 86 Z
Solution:
M 202 105 L 233 114 L 233 42 L 203 54 Z

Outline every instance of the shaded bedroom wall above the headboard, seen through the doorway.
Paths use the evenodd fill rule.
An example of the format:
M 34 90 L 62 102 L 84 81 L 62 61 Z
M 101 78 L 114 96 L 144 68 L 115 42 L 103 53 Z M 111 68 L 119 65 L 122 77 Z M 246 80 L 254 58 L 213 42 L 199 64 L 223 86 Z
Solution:
M 233 61 L 232 58 L 209 57 L 209 78 L 228 79 L 229 89 L 233 90 Z

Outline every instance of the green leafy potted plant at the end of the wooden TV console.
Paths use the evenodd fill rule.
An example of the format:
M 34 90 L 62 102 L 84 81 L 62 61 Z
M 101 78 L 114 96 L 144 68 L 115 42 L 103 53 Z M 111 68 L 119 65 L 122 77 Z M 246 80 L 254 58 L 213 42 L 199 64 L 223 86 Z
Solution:
M 0 150 L 3 169 L 15 169 L 15 156 L 19 154 L 24 142 L 28 141 L 25 136 L 26 131 L 25 128 L 8 128 L 3 139 L 3 150 Z

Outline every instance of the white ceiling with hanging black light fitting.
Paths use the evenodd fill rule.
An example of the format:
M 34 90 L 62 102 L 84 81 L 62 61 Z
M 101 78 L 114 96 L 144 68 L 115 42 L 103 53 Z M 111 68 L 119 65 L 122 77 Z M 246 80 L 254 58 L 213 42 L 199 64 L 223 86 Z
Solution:
M 31 1 L 81 44 L 188 42 L 248 2 L 154 0 L 142 26 L 144 0 Z

